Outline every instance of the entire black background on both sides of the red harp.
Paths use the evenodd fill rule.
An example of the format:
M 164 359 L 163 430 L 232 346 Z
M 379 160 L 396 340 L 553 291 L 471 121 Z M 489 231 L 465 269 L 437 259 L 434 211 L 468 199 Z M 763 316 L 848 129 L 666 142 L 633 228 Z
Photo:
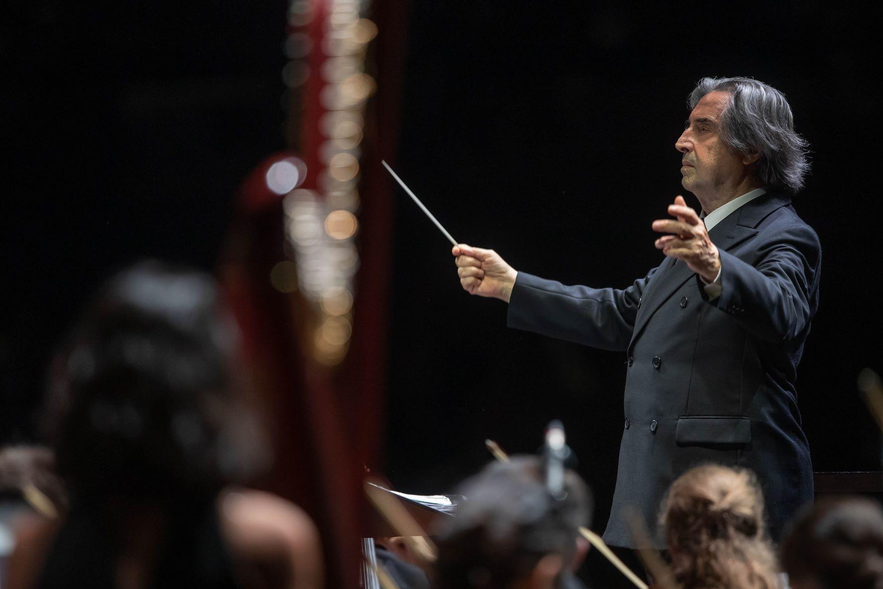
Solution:
M 104 277 L 145 256 L 215 265 L 241 178 L 283 147 L 285 7 L 8 8 L 3 442 L 34 438 L 49 353 Z M 409 11 L 401 135 L 388 159 L 457 239 L 564 283 L 624 287 L 659 263 L 650 223 L 681 192 L 674 142 L 698 79 L 747 75 L 787 94 L 812 148 L 796 208 L 824 251 L 797 382 L 804 426 L 817 471 L 879 468 L 856 389 L 861 368 L 883 369 L 880 48 L 864 12 L 513 0 L 415 0 Z M 602 529 L 623 354 L 505 328 L 505 306 L 461 291 L 447 242 L 396 198 L 389 478 L 413 493 L 449 491 L 487 461 L 485 438 L 530 452 L 560 418 Z

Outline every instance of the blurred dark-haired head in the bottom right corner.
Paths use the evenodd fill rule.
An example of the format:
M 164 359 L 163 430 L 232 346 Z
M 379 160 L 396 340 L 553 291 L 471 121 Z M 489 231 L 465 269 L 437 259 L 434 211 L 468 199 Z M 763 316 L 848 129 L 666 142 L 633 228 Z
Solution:
M 793 589 L 883 589 L 883 510 L 859 497 L 807 507 L 781 546 Z

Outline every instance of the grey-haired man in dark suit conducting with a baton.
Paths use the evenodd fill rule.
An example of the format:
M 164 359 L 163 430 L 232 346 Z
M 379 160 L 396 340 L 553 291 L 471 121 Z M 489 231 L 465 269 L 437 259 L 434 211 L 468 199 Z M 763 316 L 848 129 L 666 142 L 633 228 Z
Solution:
M 750 468 L 774 540 L 812 499 L 796 368 L 819 304 L 821 246 L 791 195 L 809 170 L 785 96 L 750 78 L 705 78 L 675 148 L 683 197 L 653 222 L 660 265 L 625 289 L 565 286 L 494 250 L 453 248 L 465 291 L 509 303 L 508 325 L 625 352 L 623 440 L 604 540 L 635 546 L 633 505 L 656 529 L 691 466 Z M 661 546 L 660 538 L 654 540 Z

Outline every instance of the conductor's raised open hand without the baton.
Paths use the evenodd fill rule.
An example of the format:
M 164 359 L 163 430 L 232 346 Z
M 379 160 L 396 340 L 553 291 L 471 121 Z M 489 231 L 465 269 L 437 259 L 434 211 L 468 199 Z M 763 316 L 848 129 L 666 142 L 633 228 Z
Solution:
M 667 256 L 685 261 L 707 283 L 713 282 L 721 271 L 721 253 L 708 237 L 706 223 L 699 219 L 695 210 L 687 206 L 683 196 L 675 196 L 675 204 L 668 205 L 668 215 L 675 219 L 653 221 L 654 231 L 673 234 L 657 239 L 656 249 L 662 250 Z

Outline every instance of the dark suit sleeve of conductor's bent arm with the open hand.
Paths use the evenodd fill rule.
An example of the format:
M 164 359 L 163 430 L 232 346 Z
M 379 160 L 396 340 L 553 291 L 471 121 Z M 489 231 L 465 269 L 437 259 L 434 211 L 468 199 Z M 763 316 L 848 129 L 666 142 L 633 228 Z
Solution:
M 709 303 L 771 342 L 800 337 L 815 312 L 821 245 L 808 225 L 792 225 L 758 248 L 751 265 L 721 250 L 721 297 Z

